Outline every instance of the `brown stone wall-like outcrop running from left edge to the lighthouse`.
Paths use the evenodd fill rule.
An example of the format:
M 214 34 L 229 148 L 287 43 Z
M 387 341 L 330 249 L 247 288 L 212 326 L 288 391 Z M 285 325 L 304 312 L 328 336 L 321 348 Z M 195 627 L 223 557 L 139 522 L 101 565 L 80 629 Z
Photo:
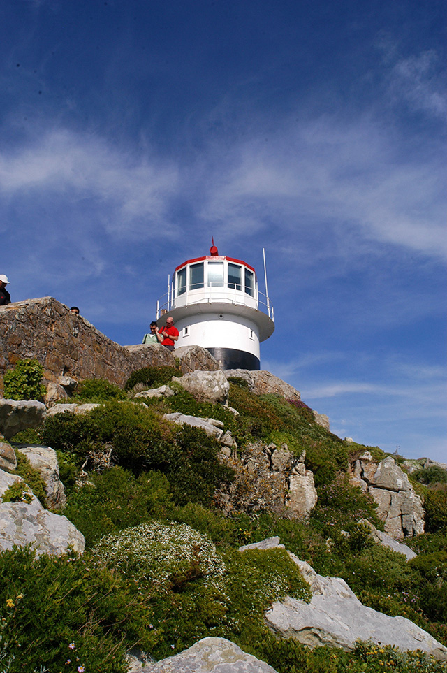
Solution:
M 24 358 L 43 366 L 50 403 L 70 396 L 75 382 L 82 379 L 107 379 L 123 386 L 133 371 L 175 367 L 176 358 L 182 372 L 219 368 L 199 346 L 174 352 L 160 344 L 120 346 L 52 297 L 0 306 L 0 389 L 4 372 Z

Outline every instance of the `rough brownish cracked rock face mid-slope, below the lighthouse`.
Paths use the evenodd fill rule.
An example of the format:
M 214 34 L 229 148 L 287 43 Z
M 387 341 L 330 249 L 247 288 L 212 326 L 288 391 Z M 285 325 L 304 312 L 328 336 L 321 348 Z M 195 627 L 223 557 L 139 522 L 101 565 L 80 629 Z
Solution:
M 306 519 L 316 505 L 314 475 L 305 467 L 305 454 L 296 458 L 287 444 L 277 448 L 264 442 L 250 444 L 241 458 L 227 464 L 235 471 L 231 484 L 217 491 L 217 505 L 230 512 L 269 511 L 293 519 Z

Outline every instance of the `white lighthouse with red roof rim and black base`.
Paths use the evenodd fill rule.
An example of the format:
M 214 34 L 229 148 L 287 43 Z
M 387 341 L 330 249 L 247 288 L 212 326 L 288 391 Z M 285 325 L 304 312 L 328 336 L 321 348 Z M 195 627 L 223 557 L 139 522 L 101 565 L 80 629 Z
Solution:
M 159 326 L 168 317 L 179 331 L 177 347 L 202 346 L 222 369 L 259 370 L 259 344 L 274 331 L 267 276 L 263 294 L 254 268 L 219 255 L 212 240 L 209 255 L 183 262 L 168 278 L 168 291 L 157 301 Z

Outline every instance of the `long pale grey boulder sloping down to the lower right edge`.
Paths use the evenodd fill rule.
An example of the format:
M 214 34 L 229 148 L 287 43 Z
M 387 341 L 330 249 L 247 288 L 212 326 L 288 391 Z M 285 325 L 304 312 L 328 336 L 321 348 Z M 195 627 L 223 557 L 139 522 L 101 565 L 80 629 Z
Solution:
M 404 651 L 419 649 L 447 660 L 447 648 L 409 619 L 365 607 L 343 579 L 322 577 L 308 563 L 290 556 L 310 585 L 312 600 L 287 597 L 272 605 L 265 621 L 280 637 L 292 637 L 312 649 L 328 645 L 344 650 L 353 649 L 361 639 Z

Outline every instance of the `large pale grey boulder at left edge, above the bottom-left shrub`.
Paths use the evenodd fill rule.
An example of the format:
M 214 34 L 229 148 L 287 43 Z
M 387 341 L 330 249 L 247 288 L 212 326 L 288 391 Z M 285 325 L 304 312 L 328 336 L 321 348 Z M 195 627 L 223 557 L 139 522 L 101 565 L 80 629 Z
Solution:
M 0 470 L 0 496 L 20 479 Z M 30 502 L 0 502 L 0 551 L 31 544 L 38 555 L 64 553 L 69 547 L 82 553 L 85 538 L 73 523 L 48 512 L 31 492 L 28 497 Z

